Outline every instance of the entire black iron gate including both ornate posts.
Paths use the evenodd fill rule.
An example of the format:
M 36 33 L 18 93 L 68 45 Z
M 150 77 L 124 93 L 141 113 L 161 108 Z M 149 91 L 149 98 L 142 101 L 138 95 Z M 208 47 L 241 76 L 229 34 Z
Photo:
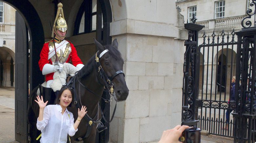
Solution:
M 256 9 L 256 0 L 250 6 Z M 198 126 L 210 134 L 233 136 L 234 142 L 256 141 L 256 10 L 247 10 L 239 32 L 211 36 L 203 34 L 202 25 L 193 16 L 185 41 L 183 66 L 182 124 Z M 246 21 L 247 19 L 247 21 Z M 235 96 L 229 101 L 231 79 Z M 234 80 L 233 80 L 234 82 Z M 232 89 L 232 90 L 233 90 Z M 233 111 L 225 114 L 226 111 Z M 233 119 L 226 119 L 226 115 Z M 227 125 L 227 126 L 226 126 Z

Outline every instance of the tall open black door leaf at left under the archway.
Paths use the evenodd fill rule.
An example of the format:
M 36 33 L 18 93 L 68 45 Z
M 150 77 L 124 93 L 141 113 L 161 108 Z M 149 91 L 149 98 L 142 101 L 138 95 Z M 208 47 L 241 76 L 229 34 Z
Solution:
M 28 142 L 28 29 L 16 11 L 15 26 L 15 140 Z

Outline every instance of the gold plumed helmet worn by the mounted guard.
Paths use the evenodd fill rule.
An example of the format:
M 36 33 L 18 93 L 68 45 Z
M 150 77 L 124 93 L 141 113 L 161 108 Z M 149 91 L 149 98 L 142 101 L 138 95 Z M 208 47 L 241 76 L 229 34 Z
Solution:
M 55 33 L 60 37 L 60 38 L 65 38 L 65 36 L 60 36 L 57 32 L 57 29 L 65 32 L 68 30 L 68 25 L 66 23 L 66 20 L 64 18 L 64 13 L 63 13 L 63 9 L 62 9 L 62 3 L 58 4 L 58 10 L 57 10 L 57 14 L 56 14 L 56 18 L 55 21 L 53 23 L 53 32 L 52 32 L 52 37 L 54 36 L 54 31 Z

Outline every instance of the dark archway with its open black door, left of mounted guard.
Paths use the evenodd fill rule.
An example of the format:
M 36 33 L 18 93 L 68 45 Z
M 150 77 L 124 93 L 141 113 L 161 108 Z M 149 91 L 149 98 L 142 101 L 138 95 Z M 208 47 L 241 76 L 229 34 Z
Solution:
M 15 63 L 15 140 L 28 142 L 27 106 L 28 106 L 28 82 L 30 72 L 30 88 L 34 88 L 43 81 L 43 76 L 39 71 L 37 62 L 39 60 L 38 45 L 44 43 L 44 32 L 41 20 L 28 0 L 13 1 L 3 0 L 4 3 L 11 5 L 16 11 L 15 28 L 15 58 L 10 61 Z M 28 34 L 28 32 L 30 34 Z M 30 35 L 30 38 L 28 37 Z M 30 46 L 29 46 L 30 39 Z M 30 49 L 30 53 L 28 53 Z M 30 59 L 29 59 L 30 54 Z M 28 63 L 32 65 L 28 68 Z M 3 62 L 2 62 L 3 63 Z M 11 66 L 11 64 L 10 64 Z M 22 71 L 22 72 L 17 72 Z M 10 80 L 14 77 L 10 77 Z

